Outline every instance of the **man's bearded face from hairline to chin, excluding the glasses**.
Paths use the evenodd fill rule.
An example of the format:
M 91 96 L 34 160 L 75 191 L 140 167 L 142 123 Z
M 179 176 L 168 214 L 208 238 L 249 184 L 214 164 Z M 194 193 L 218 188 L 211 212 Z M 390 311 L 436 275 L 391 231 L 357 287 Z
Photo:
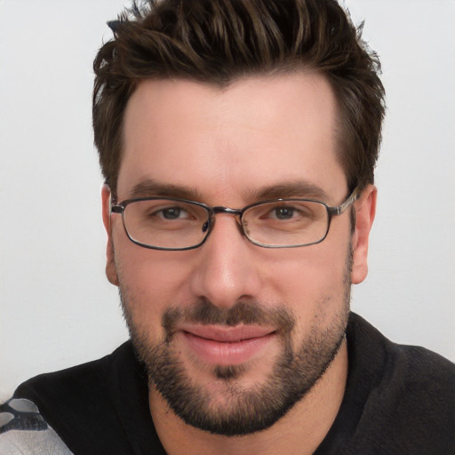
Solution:
M 330 85 L 309 73 L 251 77 L 224 90 L 142 82 L 124 116 L 118 201 L 173 196 L 238 209 L 308 197 L 339 205 L 348 188 L 336 115 Z M 350 284 L 364 275 L 363 267 L 351 271 L 362 255 L 355 238 L 347 211 L 322 243 L 266 249 L 241 234 L 235 217 L 218 214 L 201 247 L 156 251 L 132 243 L 111 215 L 108 277 L 119 285 L 152 395 L 213 433 L 272 425 L 343 342 Z

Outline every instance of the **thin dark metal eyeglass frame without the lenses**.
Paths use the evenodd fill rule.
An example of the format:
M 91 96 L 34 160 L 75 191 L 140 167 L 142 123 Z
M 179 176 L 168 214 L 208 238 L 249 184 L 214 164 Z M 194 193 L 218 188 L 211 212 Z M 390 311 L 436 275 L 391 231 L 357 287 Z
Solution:
M 259 201 L 257 203 L 246 205 L 245 207 L 243 207 L 243 209 L 231 209 L 229 207 L 222 207 L 222 206 L 212 207 L 211 205 L 207 205 L 207 204 L 204 204 L 204 203 L 199 203 L 199 202 L 196 202 L 196 201 L 190 201 L 188 199 L 178 199 L 178 198 L 172 198 L 172 197 L 160 197 L 160 196 L 136 197 L 136 198 L 133 198 L 133 199 L 125 199 L 124 201 L 122 201 L 120 203 L 109 201 L 109 216 L 112 213 L 121 214 L 122 215 L 123 225 L 124 225 L 124 232 L 126 233 L 127 237 L 132 241 L 132 243 L 135 243 L 135 244 L 137 244 L 139 246 L 142 246 L 143 248 L 148 248 L 150 250 L 187 251 L 187 250 L 194 250 L 196 248 L 199 248 L 200 246 L 202 246 L 205 243 L 205 241 L 207 240 L 207 238 L 211 234 L 212 229 L 215 226 L 215 215 L 217 213 L 227 213 L 229 215 L 234 215 L 235 217 L 237 217 L 237 222 L 238 222 L 239 228 L 241 230 L 241 233 L 248 239 L 249 242 L 251 242 L 251 243 L 253 243 L 253 244 L 257 245 L 257 246 L 260 246 L 262 248 L 299 248 L 299 247 L 302 247 L 302 246 L 309 246 L 309 245 L 314 245 L 314 244 L 323 242 L 323 240 L 329 234 L 329 229 L 331 228 L 331 219 L 332 219 L 332 217 L 339 216 L 343 212 L 345 212 L 347 207 L 349 207 L 349 205 L 351 205 L 351 204 L 354 204 L 355 201 L 359 198 L 359 196 L 360 196 L 359 195 L 359 190 L 358 190 L 358 187 L 356 187 L 352 191 L 352 193 L 349 196 L 347 196 L 347 199 L 343 203 L 339 204 L 336 207 L 333 207 L 331 205 L 325 204 L 322 201 L 318 201 L 316 199 L 305 199 L 305 198 L 304 199 L 297 199 L 297 198 L 289 198 L 288 199 L 288 198 L 282 198 L 282 199 L 269 199 L 267 201 Z M 204 231 L 206 232 L 206 234 L 204 235 L 203 240 L 201 242 L 197 243 L 196 245 L 186 246 L 184 248 L 167 248 L 167 247 L 163 247 L 163 246 L 153 246 L 153 245 L 149 245 L 147 243 L 140 243 L 139 241 L 137 241 L 134 238 L 132 238 L 132 236 L 128 232 L 128 229 L 126 228 L 126 224 L 124 222 L 124 210 L 126 209 L 126 207 L 129 204 L 132 204 L 132 203 L 141 202 L 141 201 L 156 201 L 156 200 L 164 200 L 164 201 L 180 202 L 180 203 L 186 203 L 186 204 L 194 204 L 194 205 L 197 205 L 199 207 L 202 207 L 207 212 L 207 215 L 208 215 L 208 218 L 204 222 L 204 225 L 203 225 L 203 232 Z M 297 244 L 297 245 L 267 245 L 265 243 L 259 243 L 259 242 L 256 242 L 255 240 L 252 240 L 246 234 L 246 232 L 244 230 L 243 222 L 242 222 L 242 217 L 243 217 L 243 213 L 244 212 L 247 212 L 251 208 L 257 207 L 258 205 L 262 205 L 262 204 L 271 204 L 271 203 L 277 203 L 277 202 L 292 202 L 292 201 L 317 203 L 317 204 L 322 204 L 325 207 L 329 218 L 328 218 L 327 229 L 325 230 L 325 234 L 323 235 L 323 237 L 320 240 L 317 240 L 316 242 L 301 243 L 301 244 Z

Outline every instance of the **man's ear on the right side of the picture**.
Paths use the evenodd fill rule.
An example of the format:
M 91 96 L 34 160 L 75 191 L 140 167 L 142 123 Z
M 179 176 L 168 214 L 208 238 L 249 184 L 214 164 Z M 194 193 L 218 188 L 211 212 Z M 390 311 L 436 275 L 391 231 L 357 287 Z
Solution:
M 376 214 L 377 194 L 376 187 L 368 185 L 355 202 L 355 233 L 352 242 L 354 262 L 351 275 L 353 284 L 362 283 L 368 275 L 368 240 Z

